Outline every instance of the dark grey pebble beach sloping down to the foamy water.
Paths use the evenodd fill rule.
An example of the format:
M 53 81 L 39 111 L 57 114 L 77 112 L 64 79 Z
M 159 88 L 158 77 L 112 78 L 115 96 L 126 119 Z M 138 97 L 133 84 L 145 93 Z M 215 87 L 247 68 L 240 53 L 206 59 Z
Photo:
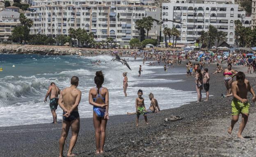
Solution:
M 175 68 L 183 68 L 185 72 L 184 62 Z M 206 67 L 208 67 L 209 73 L 213 73 L 216 65 L 208 66 L 207 64 Z M 234 69 L 240 71 L 240 68 Z M 182 91 L 195 91 L 194 77 L 187 78 L 185 74 L 155 75 L 154 77 L 154 79 L 161 78 L 184 81 L 160 82 L 147 86 L 149 88 L 163 86 Z M 255 89 L 255 77 L 247 78 Z M 139 119 L 138 127 L 135 126 L 135 115 L 110 116 L 107 123 L 105 153 L 103 155 L 94 155 L 95 140 L 92 118 L 81 118 L 80 133 L 73 153 L 78 153 L 78 157 L 255 156 L 256 124 L 254 121 L 256 120 L 256 110 L 254 103 L 249 99 L 251 104 L 250 116 L 242 134 L 247 138 L 238 139 L 236 133 L 240 120 L 235 125 L 233 133 L 231 135 L 227 133 L 231 120 L 230 104 L 232 97 L 220 97 L 221 93 L 226 92 L 222 73 L 210 75 L 209 92 L 213 96 L 208 102 L 190 102 L 190 104 L 177 108 L 162 110 L 160 113 L 148 114 L 149 125 L 145 124 L 142 116 Z M 171 95 L 171 93 L 169 94 Z M 148 99 L 147 94 L 144 97 Z M 183 95 L 183 97 L 187 98 L 190 95 Z M 158 100 L 158 97 L 155 98 Z M 251 94 L 249 94 L 249 98 L 251 98 Z M 161 108 L 161 104 L 159 106 Z M 181 116 L 183 119 L 165 122 L 165 118 L 171 115 Z M 2 139 L 0 157 L 57 157 L 60 132 L 60 123 L 56 125 L 32 124 L 0 127 L 0 138 Z M 65 143 L 64 154 L 68 149 L 70 137 L 71 132 L 69 132 Z

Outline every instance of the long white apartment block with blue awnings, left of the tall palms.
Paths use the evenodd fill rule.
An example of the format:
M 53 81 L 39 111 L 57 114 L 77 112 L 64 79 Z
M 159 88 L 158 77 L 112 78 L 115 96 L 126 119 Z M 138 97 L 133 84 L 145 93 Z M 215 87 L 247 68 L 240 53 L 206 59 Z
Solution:
M 32 2 L 27 18 L 34 21 L 32 34 L 56 37 L 68 35 L 69 28 L 82 28 L 94 33 L 96 41 L 107 37 L 121 45 L 139 38 L 135 21 L 146 16 L 160 20 L 160 8 L 152 0 L 36 0 Z M 159 25 L 154 22 L 149 38 L 157 39 Z

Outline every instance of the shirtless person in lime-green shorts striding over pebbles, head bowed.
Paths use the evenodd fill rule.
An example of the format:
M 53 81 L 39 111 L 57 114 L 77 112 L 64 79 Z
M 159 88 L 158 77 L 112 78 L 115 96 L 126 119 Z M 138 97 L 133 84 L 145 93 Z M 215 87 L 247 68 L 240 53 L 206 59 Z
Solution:
M 253 88 L 250 86 L 249 80 L 245 79 L 245 74 L 243 72 L 238 72 L 236 74 L 236 80 L 232 83 L 231 89 L 233 93 L 233 101 L 231 102 L 232 107 L 232 120 L 231 126 L 229 127 L 228 133 L 231 134 L 235 123 L 238 121 L 239 114 L 242 114 L 242 122 L 239 126 L 237 136 L 239 138 L 242 137 L 242 131 L 245 128 L 245 125 L 248 121 L 249 116 L 249 107 L 250 104 L 247 100 L 248 91 L 253 95 L 252 101 L 256 101 L 256 95 L 254 93 Z

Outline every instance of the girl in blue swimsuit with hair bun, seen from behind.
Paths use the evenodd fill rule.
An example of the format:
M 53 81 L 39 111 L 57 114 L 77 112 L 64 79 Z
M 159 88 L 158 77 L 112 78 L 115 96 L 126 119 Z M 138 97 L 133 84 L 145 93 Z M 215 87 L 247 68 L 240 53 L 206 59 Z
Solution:
M 93 105 L 93 123 L 95 129 L 96 154 L 103 153 L 105 144 L 105 131 L 108 117 L 108 90 L 102 87 L 104 75 L 97 71 L 94 77 L 96 87 L 89 91 L 89 104 Z

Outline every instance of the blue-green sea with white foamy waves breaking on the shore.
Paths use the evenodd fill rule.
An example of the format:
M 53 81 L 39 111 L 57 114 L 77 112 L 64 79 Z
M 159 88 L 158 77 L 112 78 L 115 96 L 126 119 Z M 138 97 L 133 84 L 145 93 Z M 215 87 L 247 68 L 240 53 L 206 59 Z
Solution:
M 52 56 L 52 55 L 10 55 L 0 54 L 0 127 L 53 122 L 49 99 L 43 102 L 51 82 L 62 90 L 70 86 L 73 75 L 79 77 L 78 89 L 82 91 L 78 110 L 81 118 L 92 117 L 93 106 L 89 104 L 89 90 L 95 87 L 96 71 L 103 71 L 104 87 L 109 90 L 109 113 L 122 115 L 135 111 L 137 91 L 143 90 L 146 108 L 148 95 L 154 93 L 161 109 L 175 108 L 197 100 L 195 91 L 174 90 L 167 87 L 150 87 L 152 84 L 181 82 L 183 80 L 157 79 L 161 75 L 184 75 L 184 69 L 172 69 L 165 73 L 162 66 L 142 65 L 142 59 L 122 57 L 128 61 L 130 71 L 120 62 L 113 62 L 110 55 L 94 57 Z M 92 62 L 101 60 L 100 65 Z M 142 77 L 138 77 L 142 65 Z M 162 69 L 162 70 L 158 70 Z M 158 71 L 158 72 L 156 72 Z M 128 72 L 127 97 L 123 94 L 123 72 Z M 145 87 L 148 86 L 148 87 Z M 190 97 L 184 97 L 190 95 Z M 62 122 L 62 109 L 58 106 L 57 121 Z

